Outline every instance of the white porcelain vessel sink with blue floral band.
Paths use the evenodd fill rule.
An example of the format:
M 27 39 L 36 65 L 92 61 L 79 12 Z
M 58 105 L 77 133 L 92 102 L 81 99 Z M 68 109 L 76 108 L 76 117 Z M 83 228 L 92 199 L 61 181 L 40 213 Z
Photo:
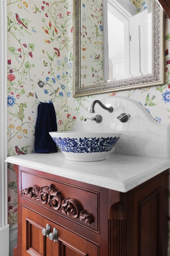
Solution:
M 65 158 L 71 161 L 100 161 L 118 142 L 122 133 L 97 131 L 49 132 Z

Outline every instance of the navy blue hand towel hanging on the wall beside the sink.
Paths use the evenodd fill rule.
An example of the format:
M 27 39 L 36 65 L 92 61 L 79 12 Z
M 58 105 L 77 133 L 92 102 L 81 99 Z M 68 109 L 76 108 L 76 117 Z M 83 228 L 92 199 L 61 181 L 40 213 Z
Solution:
M 43 103 L 38 105 L 38 115 L 35 128 L 35 153 L 57 152 L 57 147 L 49 132 L 57 131 L 57 120 L 54 105 Z

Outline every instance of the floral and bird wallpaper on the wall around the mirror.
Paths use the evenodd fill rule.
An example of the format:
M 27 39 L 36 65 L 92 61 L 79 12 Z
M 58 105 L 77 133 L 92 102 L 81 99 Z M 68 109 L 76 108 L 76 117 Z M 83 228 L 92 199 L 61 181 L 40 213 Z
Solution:
M 140 8 L 139 11 L 147 7 L 146 1 L 132 2 L 138 10 Z M 73 0 L 8 0 L 7 12 L 8 155 L 34 152 L 34 132 L 39 104 L 36 94 L 42 102 L 53 101 L 55 97 L 57 126 L 61 131 L 72 130 L 74 124 L 81 123 L 90 111 L 94 99 L 102 100 L 117 94 L 139 102 L 155 122 L 170 123 L 170 20 L 168 18 L 166 18 L 165 30 L 165 85 L 73 98 Z M 101 32 L 100 25 L 100 21 L 96 23 L 98 32 Z M 87 28 L 83 29 L 85 33 Z M 87 36 L 90 37 L 88 32 L 87 30 Z M 82 50 L 82 55 L 85 54 L 84 52 Z M 99 53 L 96 51 L 96 54 Z M 95 57 L 93 52 L 92 55 Z M 38 86 L 41 80 L 47 81 L 53 87 L 55 95 L 50 86 L 45 85 L 42 88 Z M 17 223 L 16 180 L 13 166 L 9 163 L 9 224 Z

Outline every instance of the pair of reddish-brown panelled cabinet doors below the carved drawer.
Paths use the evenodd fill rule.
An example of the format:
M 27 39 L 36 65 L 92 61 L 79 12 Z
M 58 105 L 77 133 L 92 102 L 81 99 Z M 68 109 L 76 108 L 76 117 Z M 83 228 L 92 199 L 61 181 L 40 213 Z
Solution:
M 42 235 L 50 225 L 57 229 L 58 240 L 51 241 Z M 48 221 L 37 213 L 22 207 L 22 256 L 98 256 L 98 246 Z

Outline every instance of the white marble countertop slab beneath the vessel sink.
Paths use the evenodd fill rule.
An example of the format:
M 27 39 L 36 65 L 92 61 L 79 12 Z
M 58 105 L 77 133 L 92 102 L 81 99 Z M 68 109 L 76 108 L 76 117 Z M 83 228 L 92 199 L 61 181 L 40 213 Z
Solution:
M 170 159 L 110 153 L 97 162 L 74 162 L 62 152 L 9 156 L 6 162 L 121 192 L 170 168 Z

